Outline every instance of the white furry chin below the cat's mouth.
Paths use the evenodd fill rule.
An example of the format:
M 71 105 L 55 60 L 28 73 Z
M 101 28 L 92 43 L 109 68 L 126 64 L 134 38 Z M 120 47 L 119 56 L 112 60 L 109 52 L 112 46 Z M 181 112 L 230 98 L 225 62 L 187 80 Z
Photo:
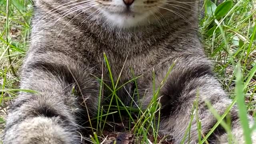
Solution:
M 104 12 L 106 22 L 118 28 L 134 28 L 148 24 L 148 14 Z

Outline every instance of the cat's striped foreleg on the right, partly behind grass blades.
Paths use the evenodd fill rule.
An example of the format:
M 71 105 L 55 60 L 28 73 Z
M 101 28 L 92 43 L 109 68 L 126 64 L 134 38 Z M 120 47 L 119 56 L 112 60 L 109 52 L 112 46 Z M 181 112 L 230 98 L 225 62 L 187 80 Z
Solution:
M 159 66 L 156 66 L 156 86 L 160 86 L 171 64 L 172 62 L 162 62 Z M 148 90 L 148 95 L 142 102 L 145 107 L 152 99 L 152 82 L 153 81 L 148 78 L 147 80 L 140 81 L 140 84 L 138 84 L 147 84 L 147 88 L 142 88 Z M 201 132 L 204 135 L 206 135 L 217 122 L 214 115 L 206 106 L 205 101 L 210 102 L 212 107 L 220 115 L 224 114 L 228 106 L 232 103 L 232 100 L 230 100 L 224 90 L 222 90 L 218 80 L 214 78 L 210 62 L 204 57 L 192 55 L 176 59 L 175 65 L 168 75 L 166 83 L 161 88 L 159 96 L 162 96 L 160 100 L 162 103 L 160 131 L 163 134 L 170 135 L 175 144 L 180 144 L 185 136 L 190 123 L 193 103 L 197 100 L 197 96 L 198 118 L 202 125 Z M 243 141 L 242 128 L 239 123 L 236 106 L 230 110 L 230 118 L 235 139 L 240 142 Z M 251 122 L 253 123 L 252 119 Z M 226 136 L 225 130 L 219 126 L 212 134 L 211 140 L 212 142 L 221 143 L 225 140 L 227 141 Z M 193 144 L 198 142 L 196 116 L 194 116 L 190 127 L 190 140 L 188 140 L 188 135 L 185 138 L 184 143 L 189 142 Z

